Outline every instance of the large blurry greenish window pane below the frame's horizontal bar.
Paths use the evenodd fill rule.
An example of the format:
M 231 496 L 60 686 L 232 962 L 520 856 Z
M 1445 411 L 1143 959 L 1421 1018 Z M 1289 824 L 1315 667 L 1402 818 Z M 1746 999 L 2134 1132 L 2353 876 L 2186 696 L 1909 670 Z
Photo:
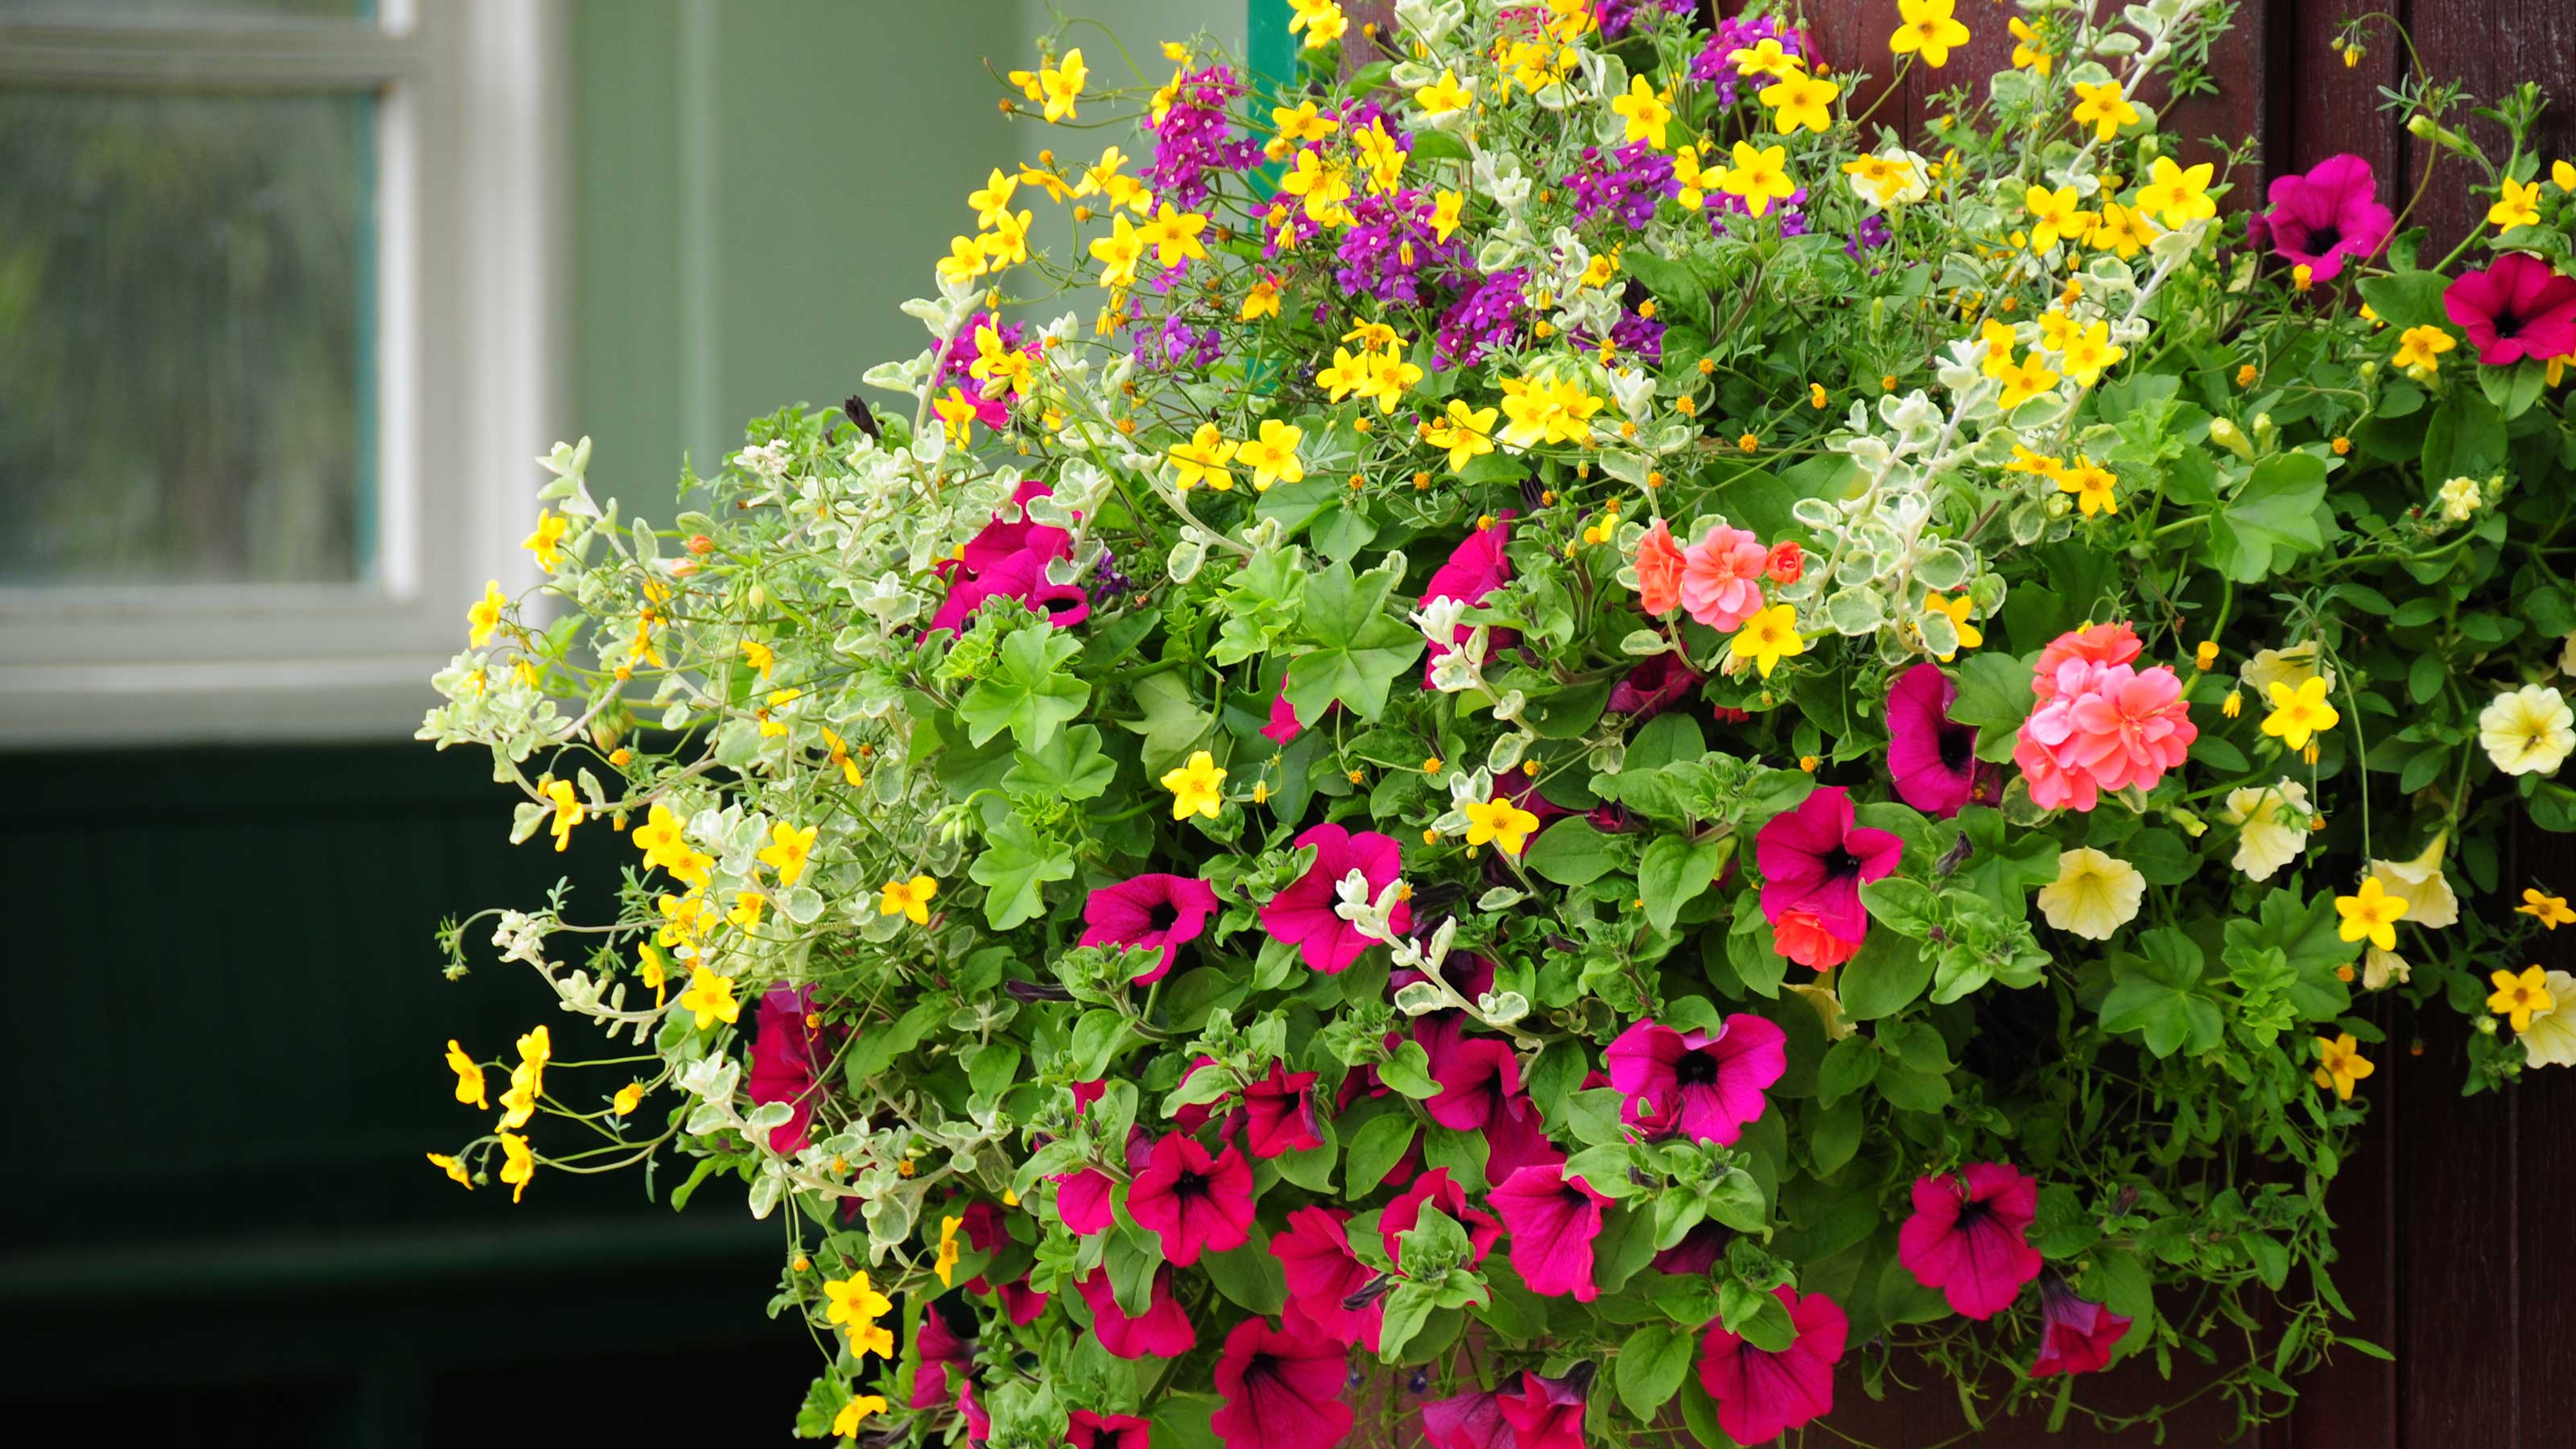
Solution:
M 374 108 L 0 88 L 0 585 L 368 575 Z

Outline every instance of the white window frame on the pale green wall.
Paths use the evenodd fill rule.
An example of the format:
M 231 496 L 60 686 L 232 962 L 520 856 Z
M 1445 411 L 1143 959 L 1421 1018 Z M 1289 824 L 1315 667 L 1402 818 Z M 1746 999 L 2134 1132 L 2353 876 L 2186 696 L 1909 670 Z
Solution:
M 376 106 L 376 578 L 0 588 L 0 745 L 407 740 L 484 580 L 536 567 L 559 436 L 562 0 L 376 23 L 0 23 L 0 83 L 348 90 Z

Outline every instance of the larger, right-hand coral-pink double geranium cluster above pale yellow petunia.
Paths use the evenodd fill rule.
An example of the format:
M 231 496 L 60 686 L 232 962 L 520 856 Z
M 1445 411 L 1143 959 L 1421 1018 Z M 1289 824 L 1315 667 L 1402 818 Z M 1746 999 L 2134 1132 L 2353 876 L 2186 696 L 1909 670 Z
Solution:
M 2200 737 L 2172 665 L 2069 657 L 2038 694 L 2043 704 L 2022 719 L 2012 763 L 2040 810 L 2092 810 L 2105 789 L 2156 789 Z

